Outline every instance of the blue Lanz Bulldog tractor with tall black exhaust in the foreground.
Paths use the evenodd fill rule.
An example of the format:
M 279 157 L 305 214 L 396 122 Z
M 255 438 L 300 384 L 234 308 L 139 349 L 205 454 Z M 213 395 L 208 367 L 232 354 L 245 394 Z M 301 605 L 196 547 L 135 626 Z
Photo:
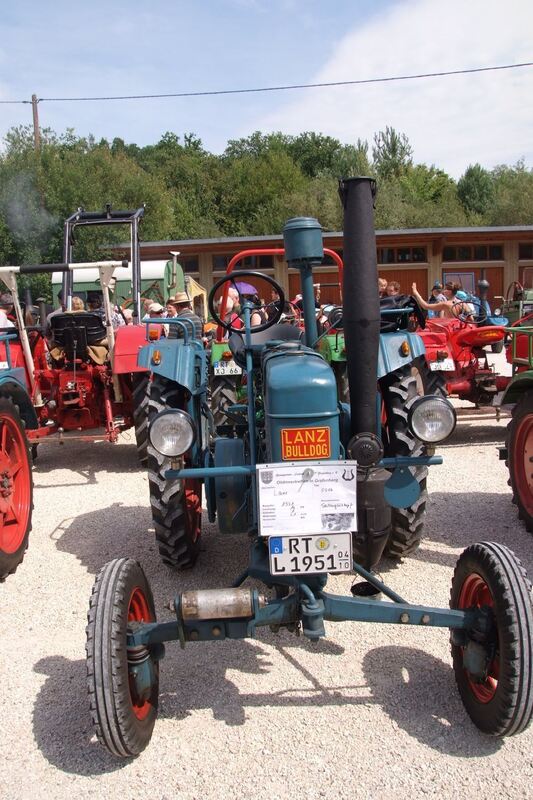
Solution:
M 426 471 L 441 463 L 434 447 L 455 426 L 447 399 L 416 391 L 411 363 L 423 347 L 406 314 L 392 310 L 380 336 L 374 190 L 369 178 L 341 183 L 344 307 L 335 325 L 345 336 L 349 405 L 318 352 L 312 267 L 322 259 L 322 233 L 314 219 L 284 228 L 287 261 L 301 275 L 304 331 L 279 323 L 282 288 L 262 273 L 234 272 L 210 293 L 247 392 L 228 407 L 220 435 L 206 353 L 190 321 L 167 320 L 179 336 L 141 351 L 140 364 L 153 373 L 148 469 L 164 561 L 183 569 L 197 559 L 202 489 L 209 519 L 221 534 L 248 536 L 250 557 L 231 586 L 178 593 L 175 619 L 163 623 L 136 561 L 103 567 L 88 615 L 88 689 L 98 738 L 116 756 L 137 755 L 151 738 L 165 642 L 240 639 L 262 626 L 314 642 L 326 635 L 326 622 L 447 628 L 458 688 L 476 725 L 504 736 L 530 722 L 533 608 L 509 550 L 467 548 L 451 608 L 412 605 L 373 572 L 384 551 L 403 556 L 418 544 Z M 243 327 L 224 314 L 230 286 Z M 348 593 L 335 595 L 326 591 L 331 573 L 357 577 Z

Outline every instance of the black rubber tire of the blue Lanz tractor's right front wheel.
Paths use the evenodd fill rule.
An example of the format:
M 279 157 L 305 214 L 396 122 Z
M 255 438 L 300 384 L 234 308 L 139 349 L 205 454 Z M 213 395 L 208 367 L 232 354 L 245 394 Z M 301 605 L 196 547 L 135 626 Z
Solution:
M 514 736 L 533 717 L 531 583 L 512 550 L 496 542 L 478 542 L 463 551 L 455 567 L 452 608 L 458 607 L 461 586 L 473 572 L 484 579 L 494 601 L 501 648 L 498 688 L 488 703 L 476 700 L 463 669 L 461 647 L 452 644 L 455 679 L 463 704 L 480 730 L 491 736 Z

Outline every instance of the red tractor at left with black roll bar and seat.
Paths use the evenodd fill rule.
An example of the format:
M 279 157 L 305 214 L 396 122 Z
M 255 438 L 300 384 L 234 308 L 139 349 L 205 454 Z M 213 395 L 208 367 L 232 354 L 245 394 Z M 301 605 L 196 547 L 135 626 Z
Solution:
M 36 445 L 55 436 L 116 442 L 120 432 L 135 427 L 141 462 L 146 460 L 146 404 L 148 373 L 137 366 L 137 353 L 146 343 L 146 326 L 139 323 L 140 259 L 138 224 L 144 209 L 134 212 L 85 212 L 78 210 L 65 224 L 64 264 L 0 267 L 0 279 L 11 291 L 17 321 L 17 340 L 8 356 L 0 343 L 1 362 L 23 367 L 31 408 L 25 408 L 26 430 L 35 454 Z M 134 324 L 116 330 L 109 290 L 116 269 L 127 261 L 72 263 L 73 232 L 78 225 L 129 224 Z M 72 272 L 99 270 L 102 309 L 96 313 L 72 311 Z M 26 326 L 18 299 L 17 274 L 63 273 L 64 312 L 58 310 Z M 13 328 L 10 329 L 14 331 Z M 25 404 L 30 399 L 26 398 Z

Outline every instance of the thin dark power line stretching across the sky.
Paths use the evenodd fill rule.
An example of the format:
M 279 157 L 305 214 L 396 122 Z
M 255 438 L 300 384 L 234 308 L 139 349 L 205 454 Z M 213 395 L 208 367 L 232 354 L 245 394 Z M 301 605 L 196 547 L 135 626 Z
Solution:
M 450 75 L 471 75 L 477 72 L 496 72 L 504 69 L 521 69 L 522 67 L 533 67 L 533 61 L 525 61 L 521 64 L 503 64 L 495 67 L 473 67 L 471 69 L 454 69 L 443 72 L 423 72 L 416 75 L 394 75 L 386 78 L 362 78 L 353 81 L 329 81 L 327 83 L 295 83 L 289 86 L 262 86 L 252 89 L 216 89 L 206 92 L 169 92 L 165 94 L 129 94 L 113 95 L 101 97 L 39 97 L 39 103 L 52 102 L 88 102 L 95 100 L 156 100 L 167 97 L 214 97 L 226 94 L 254 94 L 258 92 L 286 92 L 294 89 L 324 89 L 332 86 L 361 86 L 368 83 L 391 83 L 393 81 L 412 81 L 423 78 L 444 78 Z M 31 104 L 31 100 L 0 100 L 0 103 Z

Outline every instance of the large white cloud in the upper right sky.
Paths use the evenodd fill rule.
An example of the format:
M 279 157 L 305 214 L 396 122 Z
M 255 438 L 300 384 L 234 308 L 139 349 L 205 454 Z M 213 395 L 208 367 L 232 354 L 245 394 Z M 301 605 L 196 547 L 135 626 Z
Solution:
M 532 61 L 532 25 L 531 0 L 410 0 L 354 25 L 308 82 Z M 533 67 L 308 89 L 285 95 L 255 127 L 371 143 L 375 132 L 392 125 L 407 134 L 416 161 L 458 177 L 475 162 L 490 168 L 524 156 L 533 166 L 532 90 Z

